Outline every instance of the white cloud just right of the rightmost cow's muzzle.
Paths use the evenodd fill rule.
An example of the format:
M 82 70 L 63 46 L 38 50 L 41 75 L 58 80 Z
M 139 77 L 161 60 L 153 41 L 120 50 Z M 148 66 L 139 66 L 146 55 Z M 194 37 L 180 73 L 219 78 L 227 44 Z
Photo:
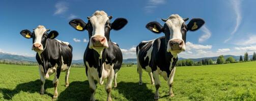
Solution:
M 201 45 L 201 44 L 193 44 L 192 42 L 186 42 L 186 50 L 190 51 L 192 49 L 211 49 L 212 45 Z

